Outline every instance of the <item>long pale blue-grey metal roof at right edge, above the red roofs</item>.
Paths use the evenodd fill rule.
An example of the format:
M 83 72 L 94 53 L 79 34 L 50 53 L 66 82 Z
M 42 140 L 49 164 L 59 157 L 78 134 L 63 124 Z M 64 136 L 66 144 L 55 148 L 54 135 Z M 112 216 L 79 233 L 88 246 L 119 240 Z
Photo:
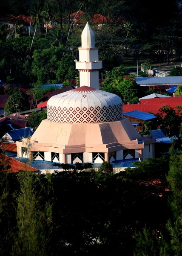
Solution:
M 150 84 L 182 84 L 182 76 L 164 76 L 164 77 L 136 77 L 136 83 L 140 85 Z

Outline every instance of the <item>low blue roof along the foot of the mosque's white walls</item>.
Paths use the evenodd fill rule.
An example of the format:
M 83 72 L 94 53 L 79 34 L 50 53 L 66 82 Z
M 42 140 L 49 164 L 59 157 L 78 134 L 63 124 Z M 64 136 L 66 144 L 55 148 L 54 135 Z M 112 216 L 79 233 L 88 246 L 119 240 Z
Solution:
M 52 162 L 49 161 L 41 161 L 41 160 L 35 160 L 35 161 L 29 161 L 27 158 L 23 157 L 15 157 L 16 160 L 26 163 L 30 165 L 31 167 L 34 167 L 38 170 L 56 170 L 56 169 L 62 169 L 59 168 L 58 166 L 54 166 Z M 127 160 L 119 160 L 119 161 L 114 161 L 112 163 L 113 167 L 116 168 L 126 168 L 126 167 L 136 167 L 135 164 L 132 162 L 139 162 L 139 158 L 132 158 L 132 159 L 127 159 Z M 74 165 L 74 164 L 73 164 Z M 101 163 L 93 163 L 93 168 L 98 168 L 101 166 Z

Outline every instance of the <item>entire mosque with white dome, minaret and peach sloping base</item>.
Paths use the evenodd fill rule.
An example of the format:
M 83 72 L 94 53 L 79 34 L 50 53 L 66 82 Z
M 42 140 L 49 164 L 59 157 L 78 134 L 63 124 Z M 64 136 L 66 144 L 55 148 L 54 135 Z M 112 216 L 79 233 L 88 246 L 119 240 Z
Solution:
M 98 48 L 87 23 L 82 31 L 80 87 L 52 96 L 47 119 L 31 138 L 17 142 L 18 157 L 57 163 L 102 163 L 154 158 L 155 139 L 141 136 L 123 117 L 119 96 L 99 90 Z

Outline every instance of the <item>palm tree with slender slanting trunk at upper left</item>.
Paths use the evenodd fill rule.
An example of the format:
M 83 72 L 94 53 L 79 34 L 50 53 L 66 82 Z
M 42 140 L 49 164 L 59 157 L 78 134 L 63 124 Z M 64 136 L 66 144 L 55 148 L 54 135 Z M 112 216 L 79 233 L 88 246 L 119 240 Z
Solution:
M 34 36 L 32 38 L 32 41 L 31 41 L 31 47 L 32 47 L 32 44 L 34 42 L 34 37 L 35 37 L 35 33 L 37 31 L 37 26 L 43 26 L 43 15 L 42 15 L 42 12 L 43 12 L 43 7 L 44 7 L 44 3 L 43 1 L 37 1 L 34 6 L 33 6 L 33 26 L 35 27 L 35 31 L 34 31 Z M 30 51 L 31 51 L 31 47 L 30 47 Z

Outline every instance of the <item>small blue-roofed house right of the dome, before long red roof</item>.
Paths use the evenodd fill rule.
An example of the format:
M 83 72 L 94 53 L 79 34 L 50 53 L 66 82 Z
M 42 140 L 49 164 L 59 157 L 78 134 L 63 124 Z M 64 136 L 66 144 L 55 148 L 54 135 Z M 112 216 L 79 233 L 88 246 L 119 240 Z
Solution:
M 134 125 L 138 132 L 143 131 L 143 121 L 149 121 L 156 118 L 156 116 L 154 116 L 153 114 L 138 110 L 125 112 L 123 113 L 123 116 L 131 121 L 132 125 Z

